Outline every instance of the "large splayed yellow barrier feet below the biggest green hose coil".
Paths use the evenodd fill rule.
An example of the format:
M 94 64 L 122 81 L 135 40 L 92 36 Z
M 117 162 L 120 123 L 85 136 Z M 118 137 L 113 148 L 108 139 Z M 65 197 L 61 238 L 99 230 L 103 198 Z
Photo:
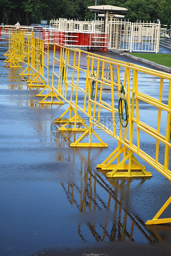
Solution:
M 115 159 L 119 159 L 123 153 L 123 159 L 118 164 L 111 164 Z M 129 164 L 125 164 L 126 160 Z M 104 171 L 112 170 L 106 173 L 107 177 L 151 177 L 150 172 L 145 171 L 145 166 L 142 166 L 132 151 L 129 151 L 126 147 L 117 147 L 110 156 L 103 161 L 102 164 L 98 164 L 96 168 L 101 168 Z

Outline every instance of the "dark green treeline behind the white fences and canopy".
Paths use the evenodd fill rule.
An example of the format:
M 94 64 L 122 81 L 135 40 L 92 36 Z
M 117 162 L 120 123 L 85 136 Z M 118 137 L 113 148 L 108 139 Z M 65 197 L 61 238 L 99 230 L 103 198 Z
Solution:
M 95 5 L 95 0 L 0 0 L 0 24 L 30 25 L 41 19 L 94 19 L 87 6 Z M 97 0 L 97 5 L 115 5 L 128 8 L 125 19 L 135 21 L 171 21 L 171 0 Z

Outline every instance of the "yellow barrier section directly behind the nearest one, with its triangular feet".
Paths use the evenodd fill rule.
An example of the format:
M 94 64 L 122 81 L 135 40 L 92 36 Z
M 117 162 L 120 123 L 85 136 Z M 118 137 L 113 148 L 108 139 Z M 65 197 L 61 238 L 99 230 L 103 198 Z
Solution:
M 82 140 L 87 133 L 89 134 L 89 142 L 78 144 L 77 146 L 84 147 L 107 147 L 108 145 L 104 143 L 100 137 L 95 133 L 92 127 L 86 125 L 84 119 L 80 117 L 78 112 L 82 112 L 87 115 L 87 70 L 86 63 L 83 67 L 80 66 L 81 51 L 68 49 L 66 47 L 61 47 L 60 59 L 55 56 L 56 45 L 54 46 L 54 63 L 57 62 L 59 65 L 53 65 L 53 75 L 52 75 L 52 87 L 60 95 L 60 97 L 65 100 L 69 107 L 64 111 L 64 113 L 55 120 L 55 123 L 59 123 L 62 126 L 59 130 L 67 131 L 77 131 L 83 132 L 80 136 Z M 57 71 L 55 70 L 57 69 Z M 59 73 L 59 75 L 58 75 Z M 54 78 L 58 78 L 58 88 L 54 87 Z M 80 77 L 84 79 L 84 83 L 80 84 Z M 73 115 L 72 115 L 73 113 Z M 68 119 L 63 119 L 64 116 L 68 114 Z M 69 127 L 68 127 L 69 126 Z M 95 137 L 100 143 L 91 142 L 91 133 L 94 133 Z M 72 143 L 70 146 L 75 146 Z

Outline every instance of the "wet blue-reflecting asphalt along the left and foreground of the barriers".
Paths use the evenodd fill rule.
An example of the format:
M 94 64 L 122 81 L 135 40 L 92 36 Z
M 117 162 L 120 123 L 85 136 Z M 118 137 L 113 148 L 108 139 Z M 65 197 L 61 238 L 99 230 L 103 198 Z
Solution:
M 66 104 L 39 104 L 19 75 L 25 64 L 3 67 L 7 50 L 1 41 L 0 256 L 170 255 L 171 225 L 145 225 L 171 196 L 170 181 L 143 161 L 152 178 L 107 179 L 96 165 L 117 142 L 71 148 L 54 124 Z

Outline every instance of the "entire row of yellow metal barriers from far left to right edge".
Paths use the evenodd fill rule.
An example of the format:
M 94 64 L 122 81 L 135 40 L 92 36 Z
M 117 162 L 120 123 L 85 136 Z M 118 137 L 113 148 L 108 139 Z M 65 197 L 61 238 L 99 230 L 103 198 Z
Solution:
M 49 47 L 46 42 L 45 50 L 44 44 L 44 40 L 32 35 L 11 33 L 5 66 L 19 67 L 19 62 L 27 63 L 21 75 L 27 76 L 30 89 L 43 88 L 37 95 L 43 97 L 40 103 L 68 103 L 69 107 L 55 123 L 60 126 L 59 131 L 80 133 L 70 146 L 108 147 L 95 131 L 101 129 L 101 133 L 118 143 L 107 159 L 97 165 L 107 177 L 152 176 L 136 159 L 136 154 L 171 181 L 171 74 L 55 44 L 52 85 L 49 85 Z M 60 52 L 56 51 L 59 47 Z M 82 63 L 85 58 L 87 61 Z M 142 74 L 150 76 L 150 83 L 159 80 L 159 88 L 150 85 L 147 91 L 139 82 Z M 164 88 L 168 97 L 165 94 L 163 98 Z M 157 116 L 145 118 L 145 109 L 149 108 Z M 107 117 L 112 120 L 110 125 L 104 122 Z M 92 141 L 91 135 L 98 143 Z M 148 140 L 153 143 L 151 150 Z M 171 197 L 146 224 L 171 222 L 171 218 L 159 218 L 170 203 Z

